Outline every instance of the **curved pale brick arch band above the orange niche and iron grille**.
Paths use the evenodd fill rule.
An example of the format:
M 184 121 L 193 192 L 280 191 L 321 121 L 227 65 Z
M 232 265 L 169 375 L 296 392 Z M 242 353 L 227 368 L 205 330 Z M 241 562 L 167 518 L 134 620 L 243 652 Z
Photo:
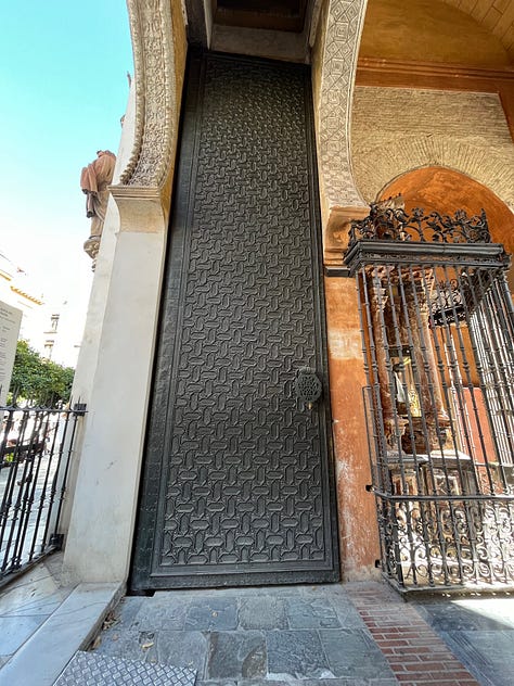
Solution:
M 513 155 L 514 157 L 514 155 Z M 356 155 L 356 177 L 367 202 L 399 176 L 432 165 L 449 167 L 489 188 L 514 212 L 514 158 L 504 152 L 474 147 L 445 137 L 408 137 L 374 148 L 360 148 Z

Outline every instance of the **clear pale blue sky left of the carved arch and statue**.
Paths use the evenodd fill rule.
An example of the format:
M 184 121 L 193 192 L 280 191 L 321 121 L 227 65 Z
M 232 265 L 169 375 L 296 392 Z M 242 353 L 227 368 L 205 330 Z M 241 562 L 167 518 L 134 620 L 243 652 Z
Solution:
M 117 152 L 133 74 L 125 0 L 0 0 L 0 252 L 47 302 L 91 283 L 80 170 Z

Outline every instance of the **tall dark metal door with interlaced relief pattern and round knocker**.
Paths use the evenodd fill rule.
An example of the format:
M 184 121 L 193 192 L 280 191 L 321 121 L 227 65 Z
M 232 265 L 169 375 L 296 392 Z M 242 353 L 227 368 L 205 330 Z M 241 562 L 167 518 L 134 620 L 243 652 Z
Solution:
M 134 589 L 338 577 L 314 169 L 306 67 L 190 59 Z

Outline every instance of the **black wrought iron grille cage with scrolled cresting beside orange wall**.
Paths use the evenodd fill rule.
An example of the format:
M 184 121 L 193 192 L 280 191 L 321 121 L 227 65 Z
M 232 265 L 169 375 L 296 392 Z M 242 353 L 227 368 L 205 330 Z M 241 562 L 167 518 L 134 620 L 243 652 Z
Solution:
M 345 263 L 357 279 L 383 572 L 409 589 L 512 585 L 514 312 L 503 247 L 485 213 L 409 217 L 373 205 L 354 224 Z

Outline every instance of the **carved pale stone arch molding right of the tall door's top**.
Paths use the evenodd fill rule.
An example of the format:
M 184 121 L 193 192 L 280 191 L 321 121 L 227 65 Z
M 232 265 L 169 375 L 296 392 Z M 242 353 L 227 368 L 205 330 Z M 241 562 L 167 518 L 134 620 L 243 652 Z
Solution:
M 350 118 L 367 0 L 330 0 L 320 93 L 319 151 L 329 206 L 363 206 L 354 181 Z

